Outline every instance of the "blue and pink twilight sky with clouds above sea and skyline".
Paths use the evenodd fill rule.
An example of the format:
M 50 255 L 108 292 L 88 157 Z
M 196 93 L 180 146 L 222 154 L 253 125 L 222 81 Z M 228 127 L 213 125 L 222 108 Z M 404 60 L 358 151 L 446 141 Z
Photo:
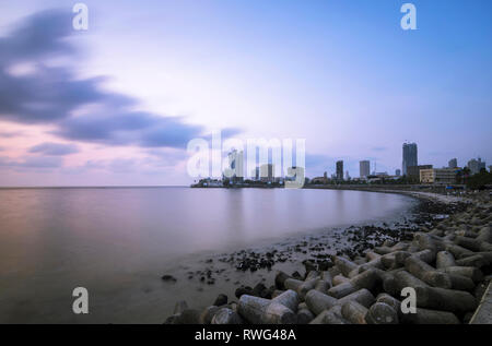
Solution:
M 306 175 L 492 164 L 492 2 L 0 1 L 0 187 L 188 184 L 190 140 L 304 139 Z

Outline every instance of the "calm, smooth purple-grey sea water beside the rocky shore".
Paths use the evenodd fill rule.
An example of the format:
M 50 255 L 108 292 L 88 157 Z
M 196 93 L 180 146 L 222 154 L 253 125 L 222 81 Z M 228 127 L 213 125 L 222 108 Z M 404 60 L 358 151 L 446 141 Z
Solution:
M 0 323 L 162 323 L 183 295 L 221 290 L 164 284 L 179 263 L 390 217 L 410 203 L 335 190 L 1 189 Z M 71 309 L 79 286 L 87 315 Z

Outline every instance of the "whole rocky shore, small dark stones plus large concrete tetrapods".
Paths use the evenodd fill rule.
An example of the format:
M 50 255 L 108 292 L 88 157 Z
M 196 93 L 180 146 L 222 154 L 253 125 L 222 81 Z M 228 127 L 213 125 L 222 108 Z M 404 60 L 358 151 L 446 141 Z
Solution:
M 214 285 L 225 265 L 239 273 L 274 272 L 274 283 L 237 281 L 238 300 L 222 294 L 204 309 L 178 301 L 165 323 L 468 323 L 492 272 L 490 195 L 419 199 L 413 217 L 391 225 L 351 226 L 210 258 L 188 279 Z M 304 270 L 286 274 L 279 270 L 285 262 Z M 403 287 L 415 289 L 417 313 L 401 313 Z

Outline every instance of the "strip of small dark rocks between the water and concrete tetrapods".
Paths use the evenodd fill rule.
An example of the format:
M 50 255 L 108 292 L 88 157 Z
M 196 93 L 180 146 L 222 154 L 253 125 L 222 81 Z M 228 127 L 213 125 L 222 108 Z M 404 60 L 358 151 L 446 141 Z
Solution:
M 272 244 L 270 251 L 266 251 L 267 247 L 263 251 L 249 249 L 211 256 L 204 261 L 207 265 L 203 271 L 190 272 L 190 278 L 199 276 L 200 279 L 208 284 L 214 285 L 215 279 L 220 281 L 224 275 L 227 282 L 234 277 L 235 282 L 233 284 L 237 286 L 234 293 L 235 297 L 231 294 L 222 294 L 219 297 L 224 298 L 224 296 L 229 296 L 227 298 L 233 300 L 229 306 L 237 308 L 236 300 L 243 295 L 271 298 L 278 287 L 274 285 L 267 287 L 266 284 L 272 283 L 279 271 L 293 272 L 292 277 L 302 279 L 309 272 L 309 269 L 324 272 L 332 267 L 333 256 L 343 255 L 349 260 L 361 261 L 367 251 L 371 252 L 372 249 L 385 243 L 411 241 L 415 232 L 429 231 L 429 229 L 438 226 L 440 223 L 446 222 L 448 217 L 464 212 L 473 204 L 473 201 L 470 199 L 429 192 L 385 191 L 383 189 L 377 189 L 374 192 L 400 193 L 417 199 L 419 203 L 414 211 L 415 217 L 412 220 L 405 220 L 405 223 L 396 225 L 384 225 L 385 223 L 383 223 L 383 225 L 350 226 L 319 237 L 313 235 L 303 236 L 292 242 L 285 241 L 277 246 Z M 215 269 L 215 263 L 220 264 L 221 269 Z M 229 277 L 227 266 L 229 272 L 231 272 L 231 267 L 235 269 L 236 275 Z M 296 269 L 295 271 L 294 267 Z M 306 274 L 303 276 L 300 273 L 304 271 Z M 265 275 L 256 275 L 255 281 L 251 279 L 253 273 L 263 273 Z M 194 308 L 208 309 L 207 306 L 192 306 Z M 174 318 L 167 322 L 176 320 L 177 314 L 179 312 L 175 309 Z M 179 319 L 177 319 L 174 322 L 181 323 L 183 321 L 179 322 Z

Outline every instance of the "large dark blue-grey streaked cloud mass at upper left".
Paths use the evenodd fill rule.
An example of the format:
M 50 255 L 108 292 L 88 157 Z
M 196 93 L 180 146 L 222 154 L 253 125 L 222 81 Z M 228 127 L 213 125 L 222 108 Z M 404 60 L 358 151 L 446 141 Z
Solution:
M 71 19 L 58 10 L 39 12 L 0 38 L 0 120 L 50 124 L 62 139 L 105 145 L 185 148 L 203 138 L 204 128 L 184 118 L 136 111 L 138 100 L 104 91 L 103 76 L 77 79 L 70 67 L 47 64 L 52 58 L 80 60 L 68 39 L 75 33 Z M 26 63 L 28 69 L 17 69 L 23 73 L 13 73 Z

